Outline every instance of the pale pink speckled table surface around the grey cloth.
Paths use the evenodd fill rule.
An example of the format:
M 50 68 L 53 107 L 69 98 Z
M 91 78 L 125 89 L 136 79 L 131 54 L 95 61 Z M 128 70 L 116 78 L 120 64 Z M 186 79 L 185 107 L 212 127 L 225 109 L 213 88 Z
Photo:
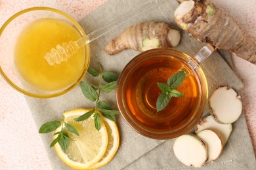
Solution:
M 79 20 L 108 0 L 87 1 L 18 1 L 0 0 L 0 26 L 15 12 L 28 7 L 54 7 Z M 230 12 L 247 36 L 256 39 L 256 1 L 213 0 Z M 239 12 L 238 12 L 239 11 Z M 243 112 L 256 153 L 256 66 L 232 57 L 234 71 L 244 83 L 240 91 Z M 13 90 L 0 78 L 0 167 L 1 169 L 51 169 L 45 149 L 24 95 Z

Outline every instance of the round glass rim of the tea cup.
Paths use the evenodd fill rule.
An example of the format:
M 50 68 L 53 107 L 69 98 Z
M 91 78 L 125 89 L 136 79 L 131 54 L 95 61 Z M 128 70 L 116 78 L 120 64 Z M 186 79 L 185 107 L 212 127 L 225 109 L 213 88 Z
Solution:
M 122 88 L 123 86 L 121 86 L 121 84 L 123 84 L 123 82 L 121 82 L 121 80 L 125 79 L 123 77 L 127 76 L 127 67 L 131 67 L 131 63 L 135 62 L 135 61 L 139 61 L 141 59 L 140 56 L 143 56 L 143 54 L 150 54 L 152 52 L 156 52 L 156 51 L 173 51 L 173 52 L 177 52 L 179 54 L 182 54 L 182 56 L 191 59 L 191 61 L 193 61 L 196 64 L 196 61 L 191 58 L 190 56 L 188 56 L 188 54 L 185 54 L 184 52 L 181 52 L 179 50 L 175 50 L 173 48 L 155 48 L 152 50 L 147 50 L 145 52 L 142 52 L 140 54 L 138 54 L 137 56 L 135 56 L 135 58 L 131 59 L 131 61 L 129 61 L 129 63 L 127 63 L 127 65 L 125 65 L 125 67 L 123 68 L 123 71 L 121 71 L 121 74 L 119 75 L 119 79 L 117 81 L 117 89 L 116 89 L 116 101 L 117 101 L 117 107 L 121 113 L 121 116 L 123 117 L 123 119 L 125 120 L 125 122 L 127 122 L 127 124 L 129 124 L 130 127 L 132 127 L 135 131 L 137 131 L 137 133 L 140 133 L 140 135 L 144 135 L 145 137 L 149 137 L 152 139 L 173 139 L 175 137 L 179 137 L 180 135 L 183 135 L 185 133 L 188 133 L 188 131 L 190 131 L 194 126 L 196 126 L 196 124 L 198 124 L 198 122 L 200 121 L 200 119 L 203 116 L 203 113 L 205 111 L 205 108 L 207 107 L 207 99 L 208 99 L 208 95 L 209 95 L 209 90 L 208 90 L 208 83 L 207 83 L 207 79 L 205 77 L 205 74 L 202 70 L 202 68 L 200 67 L 200 65 L 197 65 L 197 68 L 200 69 L 200 76 L 202 76 L 202 80 L 203 80 L 203 84 L 205 85 L 205 97 L 203 97 L 201 99 L 201 102 L 198 104 L 198 111 L 200 110 L 200 114 L 197 114 L 195 116 L 195 120 L 194 123 L 192 121 L 190 121 L 190 124 L 187 124 L 189 127 L 184 128 L 183 131 L 179 132 L 179 133 L 175 133 L 174 135 L 171 133 L 160 133 L 160 131 L 150 131 L 150 128 L 145 130 L 142 127 L 140 127 L 136 122 L 133 122 L 133 120 L 131 118 L 129 118 L 129 113 L 126 112 L 126 106 L 124 105 L 124 99 L 123 99 L 123 95 L 122 93 Z M 142 59 L 141 59 L 142 60 Z M 128 71 L 129 72 L 129 71 Z M 201 78 L 200 78 L 201 79 Z M 201 81 L 201 80 L 200 80 Z M 202 82 L 200 82 L 202 83 Z M 124 85 L 124 84 L 123 84 Z M 203 94 L 202 94 L 203 95 Z M 202 103 L 204 103 L 204 105 L 202 106 Z

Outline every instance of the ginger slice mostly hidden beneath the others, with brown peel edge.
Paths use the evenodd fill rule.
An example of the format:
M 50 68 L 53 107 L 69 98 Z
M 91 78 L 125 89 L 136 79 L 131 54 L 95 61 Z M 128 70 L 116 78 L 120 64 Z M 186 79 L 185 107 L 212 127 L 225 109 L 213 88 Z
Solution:
M 213 129 L 219 133 L 224 145 L 228 141 L 228 138 L 232 132 L 232 124 L 220 124 L 214 120 L 213 116 L 209 115 L 198 123 L 195 129 L 195 133 L 198 134 L 204 129 Z

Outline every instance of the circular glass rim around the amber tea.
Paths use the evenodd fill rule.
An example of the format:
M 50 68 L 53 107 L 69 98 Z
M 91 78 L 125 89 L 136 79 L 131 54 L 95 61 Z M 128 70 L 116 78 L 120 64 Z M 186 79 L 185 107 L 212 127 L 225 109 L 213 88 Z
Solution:
M 131 67 L 135 67 L 135 65 L 131 66 L 131 64 L 135 63 L 135 61 L 138 61 L 137 63 L 139 64 L 139 62 L 142 62 L 144 58 L 146 59 L 146 57 L 143 58 L 143 56 L 146 56 L 144 54 L 148 54 L 149 56 L 151 53 L 160 52 L 160 51 L 177 52 L 182 56 L 184 56 L 185 58 L 191 59 L 196 64 L 196 61 L 194 61 L 194 59 L 188 56 L 188 54 L 184 54 L 183 52 L 172 49 L 172 48 L 156 48 L 152 50 L 147 50 L 146 52 L 142 52 L 137 56 L 135 56 L 135 58 L 131 59 L 131 61 L 129 61 L 129 63 L 125 65 L 123 71 L 119 75 L 119 79 L 117 81 L 117 89 L 116 89 L 116 100 L 117 100 L 117 107 L 121 112 L 121 116 L 124 118 L 125 122 L 127 122 L 127 124 L 129 124 L 129 126 L 132 127 L 135 131 L 137 131 L 141 135 L 150 137 L 152 139 L 172 139 L 190 131 L 194 126 L 196 126 L 196 124 L 200 121 L 200 119 L 203 116 L 205 107 L 207 105 L 208 85 L 207 85 L 207 79 L 205 78 L 205 74 L 203 73 L 203 70 L 199 65 L 198 65 L 198 69 L 200 72 L 200 76 L 198 76 L 198 79 L 200 80 L 200 85 L 201 85 L 200 87 L 201 87 L 201 90 L 202 88 L 205 88 L 204 90 L 205 92 L 202 92 L 202 95 L 201 95 L 203 98 L 198 103 L 198 109 L 195 110 L 195 112 L 198 111 L 200 113 L 196 114 L 192 120 L 188 120 L 187 121 L 188 123 L 186 123 L 186 126 L 183 126 L 179 129 L 175 129 L 175 131 L 161 131 L 161 130 L 150 128 L 150 127 L 146 127 L 146 128 L 141 127 L 139 124 L 137 124 L 137 122 L 133 121 L 133 118 L 131 118 L 131 116 L 129 115 L 131 113 L 129 112 L 129 109 L 127 109 L 127 106 L 125 106 L 125 99 L 123 98 L 124 94 L 122 94 L 123 88 L 125 86 L 125 81 L 127 81 L 128 79 L 127 75 L 131 71 Z M 152 58 L 154 57 L 152 56 Z M 203 84 L 202 84 L 202 81 L 203 81 Z

